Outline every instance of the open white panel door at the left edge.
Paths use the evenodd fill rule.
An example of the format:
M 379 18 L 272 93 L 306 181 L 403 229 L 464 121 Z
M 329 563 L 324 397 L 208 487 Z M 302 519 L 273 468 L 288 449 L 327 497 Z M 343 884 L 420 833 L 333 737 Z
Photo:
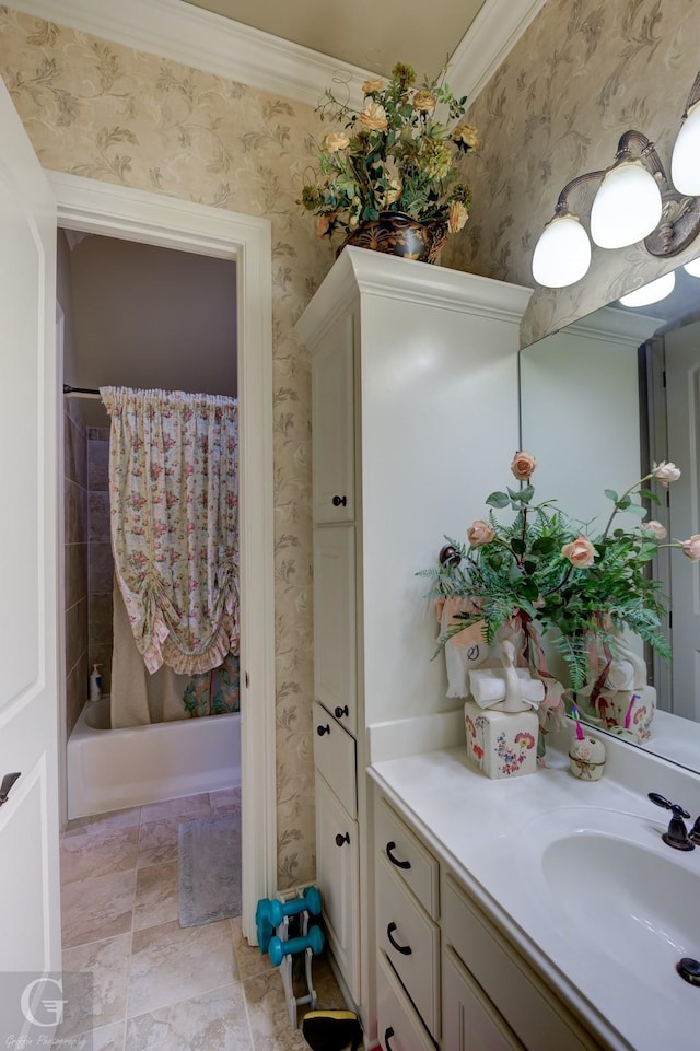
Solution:
M 46 971 L 60 968 L 56 207 L 1 80 L 0 141 L 0 780 L 20 774 L 0 805 L 0 972 Z

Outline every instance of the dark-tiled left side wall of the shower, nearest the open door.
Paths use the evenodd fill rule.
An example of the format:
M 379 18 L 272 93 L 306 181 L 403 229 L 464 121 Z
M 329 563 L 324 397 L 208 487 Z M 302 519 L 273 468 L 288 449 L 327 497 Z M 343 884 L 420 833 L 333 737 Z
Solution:
M 88 697 L 88 434 L 77 398 L 65 399 L 66 731 Z

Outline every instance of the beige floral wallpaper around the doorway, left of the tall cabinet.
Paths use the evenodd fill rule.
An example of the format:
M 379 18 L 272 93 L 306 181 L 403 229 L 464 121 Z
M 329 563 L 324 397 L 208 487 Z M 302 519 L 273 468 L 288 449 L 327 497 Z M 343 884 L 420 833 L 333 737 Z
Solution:
M 46 168 L 272 224 L 279 886 L 315 875 L 310 362 L 293 326 L 332 262 L 295 201 L 313 109 L 0 7 L 0 75 Z

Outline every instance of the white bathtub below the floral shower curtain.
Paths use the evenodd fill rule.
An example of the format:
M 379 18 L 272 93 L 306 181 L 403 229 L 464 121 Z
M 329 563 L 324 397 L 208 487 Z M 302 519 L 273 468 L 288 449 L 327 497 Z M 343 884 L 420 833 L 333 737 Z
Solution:
M 89 701 L 68 739 L 68 817 L 241 784 L 241 715 L 110 729 L 109 698 Z

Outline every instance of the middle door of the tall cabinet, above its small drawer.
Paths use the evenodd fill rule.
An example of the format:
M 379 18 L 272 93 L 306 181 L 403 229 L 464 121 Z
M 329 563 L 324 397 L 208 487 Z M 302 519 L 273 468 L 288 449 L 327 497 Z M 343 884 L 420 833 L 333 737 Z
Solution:
M 354 526 L 314 529 L 316 700 L 357 734 Z

